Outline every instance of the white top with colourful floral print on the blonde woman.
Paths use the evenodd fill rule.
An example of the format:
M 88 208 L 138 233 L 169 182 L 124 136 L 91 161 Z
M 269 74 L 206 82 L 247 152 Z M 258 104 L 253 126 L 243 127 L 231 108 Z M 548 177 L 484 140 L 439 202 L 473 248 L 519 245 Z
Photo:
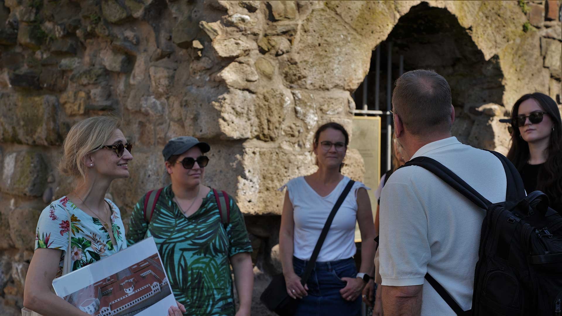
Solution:
M 106 228 L 97 218 L 84 213 L 66 196 L 51 202 L 42 211 L 35 231 L 35 249 L 62 250 L 57 276 L 62 274 L 69 234 L 71 238 L 72 271 L 127 247 L 121 213 L 112 201 L 107 200 L 107 198 L 106 201 L 111 208 L 111 226 L 117 245 L 113 244 Z M 70 213 L 70 221 L 65 208 Z

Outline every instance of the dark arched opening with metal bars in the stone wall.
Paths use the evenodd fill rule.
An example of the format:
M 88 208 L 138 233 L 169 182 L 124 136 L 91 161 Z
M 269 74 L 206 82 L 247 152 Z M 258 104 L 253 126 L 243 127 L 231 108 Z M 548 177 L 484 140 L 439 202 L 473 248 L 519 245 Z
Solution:
M 391 91 L 400 76 L 401 56 L 403 70 L 433 69 L 444 76 L 452 93 L 457 112 L 453 133 L 459 141 L 467 142 L 472 119 L 468 112 L 486 103 L 502 104 L 504 78 L 497 56 L 486 60 L 471 37 L 471 29 L 459 24 L 456 16 L 446 9 L 430 7 L 422 2 L 402 16 L 395 28 L 377 49 L 380 51 L 380 71 L 377 74 L 377 53 L 373 51 L 366 84 L 362 83 L 353 94 L 357 109 L 389 110 L 387 106 L 387 75 L 391 71 Z M 392 58 L 387 67 L 387 58 Z M 375 101 L 376 77 L 379 76 L 379 98 Z M 366 91 L 364 91 L 366 89 Z M 366 92 L 366 94 L 364 93 Z M 364 98 L 366 96 L 366 98 Z M 360 115 L 360 114 L 356 114 Z M 381 170 L 387 170 L 386 116 L 382 115 Z

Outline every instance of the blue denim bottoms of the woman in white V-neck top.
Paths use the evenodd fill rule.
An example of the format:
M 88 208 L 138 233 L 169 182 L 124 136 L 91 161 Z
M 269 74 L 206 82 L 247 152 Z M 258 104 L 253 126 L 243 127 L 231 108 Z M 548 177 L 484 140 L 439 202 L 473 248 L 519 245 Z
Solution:
M 294 273 L 302 276 L 308 261 L 293 257 Z M 357 269 L 353 258 L 318 262 L 310 274 L 306 285 L 309 287 L 308 296 L 300 300 L 296 316 L 359 316 L 361 314 L 361 296 L 355 301 L 343 299 L 339 290 L 347 282 L 341 278 L 355 278 Z

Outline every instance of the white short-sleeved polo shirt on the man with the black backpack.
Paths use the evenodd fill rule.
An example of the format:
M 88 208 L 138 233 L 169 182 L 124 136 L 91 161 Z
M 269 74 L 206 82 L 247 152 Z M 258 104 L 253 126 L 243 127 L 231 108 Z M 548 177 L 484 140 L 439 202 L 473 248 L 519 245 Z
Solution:
M 505 201 L 506 177 L 492 153 L 456 137 L 420 148 L 492 203 Z M 472 308 L 474 267 L 486 211 L 420 166 L 396 170 L 380 197 L 380 276 L 388 286 L 423 285 L 422 315 L 455 315 L 425 281 L 429 272 L 463 308 Z

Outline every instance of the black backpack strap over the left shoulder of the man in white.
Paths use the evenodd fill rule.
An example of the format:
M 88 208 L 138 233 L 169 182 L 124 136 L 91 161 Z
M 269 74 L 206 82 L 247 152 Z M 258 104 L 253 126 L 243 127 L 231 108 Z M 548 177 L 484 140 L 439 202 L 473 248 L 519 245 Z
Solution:
M 420 166 L 432 172 L 449 186 L 456 189 L 456 191 L 459 191 L 459 193 L 484 210 L 487 210 L 488 205 L 491 204 L 491 202 L 478 193 L 478 191 L 469 186 L 468 183 L 437 160 L 424 156 L 415 157 L 414 159 L 406 162 L 406 164 L 402 165 L 400 168 L 405 168 L 407 166 Z

